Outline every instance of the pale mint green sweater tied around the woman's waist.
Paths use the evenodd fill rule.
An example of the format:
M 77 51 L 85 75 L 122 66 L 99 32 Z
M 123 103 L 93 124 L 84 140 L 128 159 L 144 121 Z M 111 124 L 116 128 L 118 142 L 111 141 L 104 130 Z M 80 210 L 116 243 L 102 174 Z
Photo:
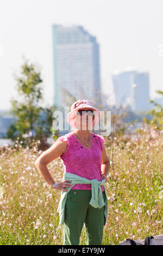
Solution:
M 106 194 L 105 179 L 101 181 L 98 181 L 97 179 L 88 180 L 86 178 L 82 178 L 73 173 L 64 173 L 64 179 L 71 180 L 70 183 L 73 185 L 71 187 L 66 187 L 68 191 L 61 191 L 61 198 L 60 198 L 60 202 L 57 209 L 57 212 L 59 212 L 59 224 L 64 224 L 65 204 L 66 204 L 67 194 L 71 190 L 71 188 L 75 184 L 91 184 L 92 198 L 90 200 L 90 205 L 92 205 L 95 208 L 102 208 L 105 205 L 105 209 L 104 209 L 104 216 L 105 216 L 104 225 L 105 225 L 108 217 L 108 197 Z M 105 201 L 103 199 L 101 185 L 104 186 Z

